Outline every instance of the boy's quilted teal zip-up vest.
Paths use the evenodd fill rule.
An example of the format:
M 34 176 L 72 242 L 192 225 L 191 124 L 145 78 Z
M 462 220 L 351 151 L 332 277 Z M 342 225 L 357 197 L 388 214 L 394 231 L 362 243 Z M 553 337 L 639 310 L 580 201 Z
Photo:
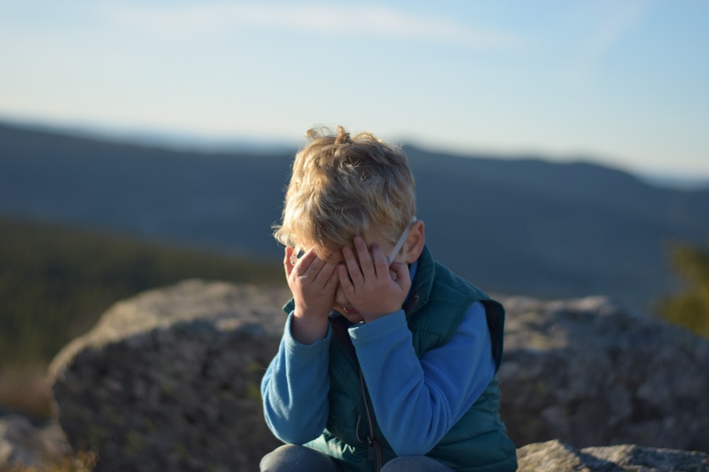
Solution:
M 445 345 L 474 301 L 485 306 L 493 358 L 499 368 L 505 316 L 501 304 L 436 263 L 428 248 L 424 248 L 404 306 L 416 355 L 420 358 L 426 351 Z M 374 413 L 367 401 L 354 348 L 346 338 L 345 330 L 343 335 L 333 336 L 330 343 L 330 414 L 323 434 L 307 445 L 335 458 L 343 471 L 374 471 L 376 449 L 381 450 L 384 464 L 396 454 L 376 424 L 371 429 L 368 418 Z M 500 391 L 493 378 L 474 405 L 426 455 L 456 471 L 517 470 L 515 445 L 507 437 L 499 407 Z M 371 442 L 373 437 L 375 442 Z

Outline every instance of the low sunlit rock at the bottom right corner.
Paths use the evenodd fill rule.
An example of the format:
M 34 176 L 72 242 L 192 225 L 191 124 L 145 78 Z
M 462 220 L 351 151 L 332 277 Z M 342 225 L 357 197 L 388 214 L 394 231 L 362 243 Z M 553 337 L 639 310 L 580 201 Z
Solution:
M 519 472 L 706 472 L 709 454 L 633 444 L 575 449 L 557 440 L 517 450 Z

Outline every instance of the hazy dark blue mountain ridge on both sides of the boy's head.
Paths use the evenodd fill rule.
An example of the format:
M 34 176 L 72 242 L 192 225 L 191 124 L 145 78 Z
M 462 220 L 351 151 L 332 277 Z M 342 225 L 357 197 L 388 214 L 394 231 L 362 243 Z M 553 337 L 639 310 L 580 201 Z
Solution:
M 608 294 L 647 308 L 674 287 L 668 244 L 708 241 L 709 190 L 657 188 L 590 163 L 404 150 L 432 252 L 492 292 Z M 0 214 L 277 260 L 271 225 L 292 154 L 174 151 L 0 123 Z

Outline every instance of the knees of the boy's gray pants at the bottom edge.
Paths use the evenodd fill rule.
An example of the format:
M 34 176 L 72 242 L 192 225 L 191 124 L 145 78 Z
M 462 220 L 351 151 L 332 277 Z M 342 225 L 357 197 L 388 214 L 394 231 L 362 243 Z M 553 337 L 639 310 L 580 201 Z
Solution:
M 261 472 L 340 472 L 327 454 L 305 446 L 284 444 L 261 459 Z M 397 457 L 381 468 L 381 472 L 454 472 L 426 456 Z

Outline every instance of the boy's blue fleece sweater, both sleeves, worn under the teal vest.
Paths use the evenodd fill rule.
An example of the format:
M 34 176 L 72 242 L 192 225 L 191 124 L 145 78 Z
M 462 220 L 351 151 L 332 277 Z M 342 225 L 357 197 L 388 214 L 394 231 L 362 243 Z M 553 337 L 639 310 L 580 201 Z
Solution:
M 411 278 L 415 275 L 411 266 Z M 328 418 L 325 338 L 303 345 L 291 335 L 290 313 L 261 393 L 267 425 L 281 441 L 305 444 Z M 334 312 L 330 316 L 340 316 Z M 495 374 L 485 311 L 474 303 L 446 345 L 416 357 L 403 309 L 349 328 L 377 424 L 399 456 L 426 454 L 462 417 Z

